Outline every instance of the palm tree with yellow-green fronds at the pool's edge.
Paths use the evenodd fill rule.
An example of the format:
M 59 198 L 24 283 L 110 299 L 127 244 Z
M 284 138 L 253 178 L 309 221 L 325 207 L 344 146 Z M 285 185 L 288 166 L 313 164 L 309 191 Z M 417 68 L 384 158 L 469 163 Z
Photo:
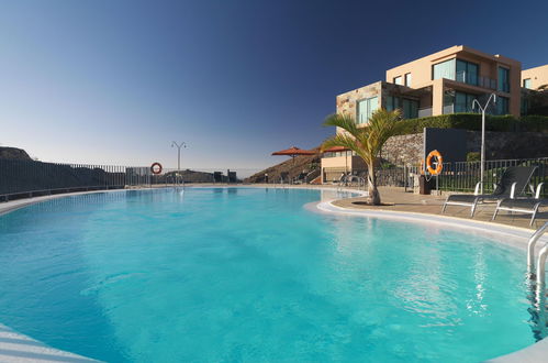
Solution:
M 374 164 L 382 145 L 390 136 L 393 136 L 401 120 L 401 111 L 387 111 L 378 109 L 371 114 L 369 122 L 364 128 L 358 128 L 354 118 L 345 114 L 329 116 L 324 125 L 337 127 L 344 132 L 337 133 L 335 136 L 326 140 L 322 144 L 322 152 L 333 146 L 344 146 L 355 152 L 364 160 L 368 170 L 368 197 L 369 205 L 379 206 L 381 196 L 377 189 L 377 179 L 374 177 Z

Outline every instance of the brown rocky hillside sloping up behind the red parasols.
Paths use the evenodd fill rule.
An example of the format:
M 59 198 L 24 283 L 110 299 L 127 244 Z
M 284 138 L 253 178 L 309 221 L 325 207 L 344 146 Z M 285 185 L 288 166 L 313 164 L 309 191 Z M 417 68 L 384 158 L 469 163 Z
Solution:
M 244 183 L 265 183 L 265 174 L 268 174 L 268 183 L 278 183 L 283 172 L 289 173 L 289 177 L 292 179 L 304 170 L 311 172 L 314 166 L 320 167 L 320 160 L 321 154 L 297 156 L 294 161 L 289 157 L 280 164 L 251 175 L 244 179 Z

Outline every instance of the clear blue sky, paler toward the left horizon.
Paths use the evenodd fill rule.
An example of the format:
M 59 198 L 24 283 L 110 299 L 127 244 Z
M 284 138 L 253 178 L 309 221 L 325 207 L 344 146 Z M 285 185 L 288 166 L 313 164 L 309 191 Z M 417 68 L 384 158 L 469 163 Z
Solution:
M 548 64 L 548 1 L 0 0 L 0 144 L 42 161 L 260 168 L 335 96 L 465 44 Z

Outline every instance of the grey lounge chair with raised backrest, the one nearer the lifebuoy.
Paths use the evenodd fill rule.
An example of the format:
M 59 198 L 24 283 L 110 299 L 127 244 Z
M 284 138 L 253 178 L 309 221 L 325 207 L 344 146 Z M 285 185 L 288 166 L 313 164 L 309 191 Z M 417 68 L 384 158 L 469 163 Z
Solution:
M 494 185 L 492 194 L 480 195 L 480 185 L 476 185 L 473 195 L 470 194 L 454 194 L 447 197 L 441 213 L 445 212 L 447 206 L 467 206 L 471 207 L 470 217 L 473 217 L 478 204 L 485 201 L 497 201 L 504 198 L 515 198 L 525 191 L 530 177 L 537 169 L 536 166 L 511 166 L 507 167 L 501 176 L 497 184 Z

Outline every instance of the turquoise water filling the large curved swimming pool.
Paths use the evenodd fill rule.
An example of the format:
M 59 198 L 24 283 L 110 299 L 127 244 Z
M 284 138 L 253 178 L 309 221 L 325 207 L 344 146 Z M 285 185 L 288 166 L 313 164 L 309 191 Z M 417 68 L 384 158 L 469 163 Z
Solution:
M 322 197 L 123 191 L 0 216 L 0 322 L 110 362 L 477 362 L 534 342 L 524 251 L 303 207 Z

